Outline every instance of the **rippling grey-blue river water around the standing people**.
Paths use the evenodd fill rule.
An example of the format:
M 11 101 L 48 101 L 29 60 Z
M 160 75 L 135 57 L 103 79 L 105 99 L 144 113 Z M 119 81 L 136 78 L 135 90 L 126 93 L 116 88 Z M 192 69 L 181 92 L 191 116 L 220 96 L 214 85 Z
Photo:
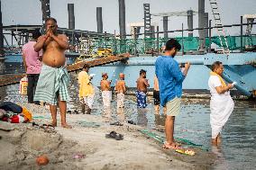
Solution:
M 23 103 L 27 100 L 26 97 L 21 97 L 18 94 L 18 85 L 1 87 L 0 93 L 2 100 L 4 98 L 5 101 Z M 76 81 L 70 87 L 70 97 L 68 109 L 80 111 Z M 123 110 L 116 110 L 116 103 L 113 100 L 111 110 L 104 111 L 100 92 L 96 89 L 92 114 L 104 115 L 107 121 L 124 121 L 125 119 L 132 120 L 149 129 L 163 129 L 165 117 L 162 115 L 162 111 L 156 115 L 152 98 L 149 97 L 148 101 L 149 105 L 146 109 L 138 110 L 135 96 L 127 95 Z M 256 169 L 256 103 L 248 101 L 235 101 L 234 103 L 233 114 L 222 133 L 221 148 L 212 148 L 212 151 L 218 156 L 215 169 Z M 182 99 L 181 113 L 175 122 L 175 136 L 210 147 L 209 113 L 208 99 Z

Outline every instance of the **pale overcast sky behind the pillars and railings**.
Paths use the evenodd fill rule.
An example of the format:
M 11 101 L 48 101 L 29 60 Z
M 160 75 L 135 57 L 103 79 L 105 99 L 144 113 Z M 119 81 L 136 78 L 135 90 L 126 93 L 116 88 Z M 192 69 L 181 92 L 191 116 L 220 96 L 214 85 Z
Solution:
M 1 0 L 3 24 L 41 24 L 40 0 Z M 224 24 L 239 23 L 245 13 L 256 13 L 256 0 L 218 0 Z M 75 4 L 76 29 L 96 31 L 96 7 L 103 8 L 104 31 L 119 31 L 118 0 L 50 0 L 50 15 L 57 19 L 59 27 L 67 28 L 68 4 Z M 197 11 L 198 0 L 125 0 L 126 24 L 143 22 L 143 4 L 151 4 L 151 13 L 179 12 L 193 9 Z M 209 1 L 206 0 L 206 12 L 212 18 Z M 197 28 L 197 15 L 194 16 L 194 28 Z M 162 30 L 162 18 L 152 16 Z M 169 30 L 187 28 L 187 17 L 170 17 Z M 245 20 L 244 20 L 245 22 Z M 255 25 L 253 31 L 255 32 Z M 239 28 L 229 30 L 238 33 Z M 126 33 L 130 33 L 126 29 Z

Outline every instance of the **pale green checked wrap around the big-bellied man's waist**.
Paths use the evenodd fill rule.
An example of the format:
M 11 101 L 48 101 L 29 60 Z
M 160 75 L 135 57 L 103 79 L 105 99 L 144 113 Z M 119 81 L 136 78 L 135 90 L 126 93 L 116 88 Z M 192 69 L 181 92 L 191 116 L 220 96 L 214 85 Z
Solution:
M 57 105 L 58 97 L 60 101 L 68 101 L 68 85 L 69 73 L 66 67 L 50 67 L 43 64 L 33 100 L 51 105 Z

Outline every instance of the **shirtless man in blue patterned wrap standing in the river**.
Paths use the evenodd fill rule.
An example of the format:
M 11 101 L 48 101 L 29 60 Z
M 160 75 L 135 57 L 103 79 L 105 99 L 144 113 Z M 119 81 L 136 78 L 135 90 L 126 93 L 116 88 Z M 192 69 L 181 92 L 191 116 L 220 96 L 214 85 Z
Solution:
M 135 95 L 137 97 L 137 107 L 138 108 L 145 108 L 147 106 L 147 91 L 148 87 L 150 86 L 147 77 L 146 70 L 141 69 L 140 77 L 137 79 L 137 90 Z

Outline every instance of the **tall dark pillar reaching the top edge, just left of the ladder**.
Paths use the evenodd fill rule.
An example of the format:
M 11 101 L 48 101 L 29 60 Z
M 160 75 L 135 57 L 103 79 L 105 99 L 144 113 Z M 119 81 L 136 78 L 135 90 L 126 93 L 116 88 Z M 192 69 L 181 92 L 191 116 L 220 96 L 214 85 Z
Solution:
M 205 0 L 198 0 L 198 28 L 205 27 Z M 205 49 L 205 31 L 198 30 L 200 49 Z

